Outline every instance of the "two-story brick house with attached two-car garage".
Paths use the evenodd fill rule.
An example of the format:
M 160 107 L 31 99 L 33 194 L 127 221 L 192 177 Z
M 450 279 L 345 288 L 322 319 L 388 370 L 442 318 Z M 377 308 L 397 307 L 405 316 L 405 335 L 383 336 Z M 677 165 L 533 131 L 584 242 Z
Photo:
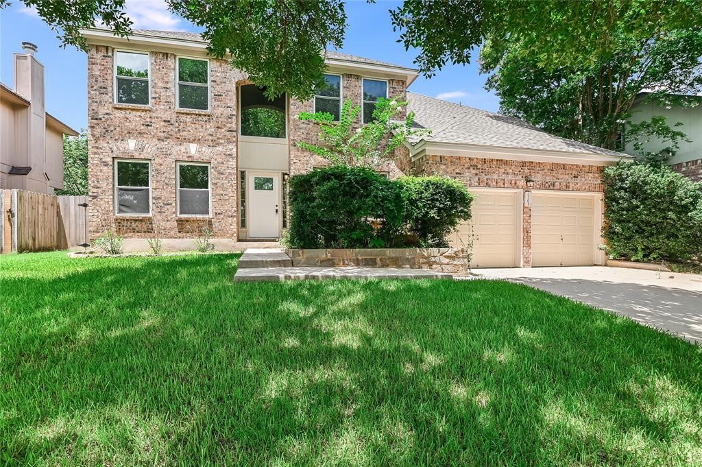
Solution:
M 602 168 L 625 154 L 552 136 L 491 112 L 407 93 L 417 71 L 328 52 L 327 86 L 309 102 L 263 91 L 198 34 L 138 30 L 128 39 L 88 29 L 90 231 L 128 239 L 192 239 L 203 227 L 231 242 L 277 239 L 286 228 L 286 180 L 324 161 L 301 150 L 319 126 L 303 111 L 338 114 L 380 97 L 409 99 L 430 136 L 408 143 L 402 173 L 442 173 L 478 196 L 473 264 L 592 265 L 601 242 Z M 403 117 L 403 116 L 400 116 Z M 192 240 L 190 240 L 192 243 Z

